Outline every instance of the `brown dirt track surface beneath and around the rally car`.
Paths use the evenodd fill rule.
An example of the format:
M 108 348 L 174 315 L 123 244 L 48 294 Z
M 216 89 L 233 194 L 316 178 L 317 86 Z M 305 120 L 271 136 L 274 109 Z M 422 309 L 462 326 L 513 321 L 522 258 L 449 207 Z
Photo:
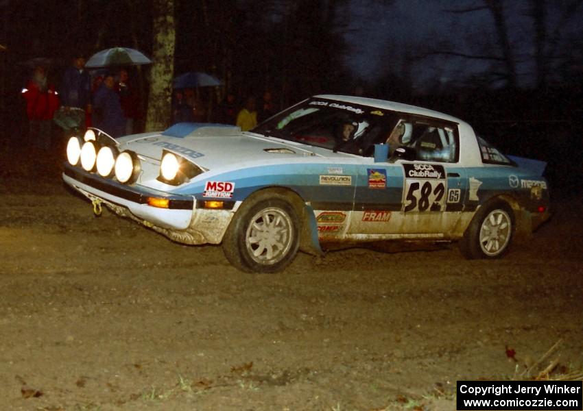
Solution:
M 503 260 L 350 249 L 250 275 L 27 167 L 0 176 L 0 410 L 453 410 L 456 380 L 560 338 L 554 373 L 583 368 L 579 198 Z

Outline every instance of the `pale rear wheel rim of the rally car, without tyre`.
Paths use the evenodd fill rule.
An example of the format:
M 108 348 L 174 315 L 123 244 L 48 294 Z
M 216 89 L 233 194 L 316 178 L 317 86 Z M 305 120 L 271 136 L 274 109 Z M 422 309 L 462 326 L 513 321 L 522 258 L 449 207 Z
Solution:
M 508 246 L 512 220 L 504 210 L 492 210 L 481 223 L 479 245 L 488 257 L 495 257 Z

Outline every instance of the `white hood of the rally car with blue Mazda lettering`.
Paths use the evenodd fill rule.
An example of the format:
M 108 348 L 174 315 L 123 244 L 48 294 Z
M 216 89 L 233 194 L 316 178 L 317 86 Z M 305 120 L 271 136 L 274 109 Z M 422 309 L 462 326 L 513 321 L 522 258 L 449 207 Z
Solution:
M 182 131 L 191 130 L 184 135 L 176 132 L 176 129 L 172 132 L 172 128 L 162 133 L 136 134 L 118 138 L 119 149 L 132 150 L 154 160 L 160 160 L 163 150 L 167 150 L 187 158 L 204 169 L 233 166 L 239 163 L 288 162 L 294 158 L 307 156 L 347 156 L 344 153 L 333 153 L 331 150 L 320 147 L 241 132 L 239 127 L 191 125 L 182 127 Z

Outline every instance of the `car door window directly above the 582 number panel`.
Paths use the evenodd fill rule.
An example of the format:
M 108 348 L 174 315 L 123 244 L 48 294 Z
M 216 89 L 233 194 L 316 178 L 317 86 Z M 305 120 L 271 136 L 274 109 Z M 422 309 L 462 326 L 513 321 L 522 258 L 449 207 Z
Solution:
M 416 122 L 412 124 L 409 142 L 403 142 L 416 150 L 418 160 L 435 162 L 457 161 L 457 134 L 453 127 Z

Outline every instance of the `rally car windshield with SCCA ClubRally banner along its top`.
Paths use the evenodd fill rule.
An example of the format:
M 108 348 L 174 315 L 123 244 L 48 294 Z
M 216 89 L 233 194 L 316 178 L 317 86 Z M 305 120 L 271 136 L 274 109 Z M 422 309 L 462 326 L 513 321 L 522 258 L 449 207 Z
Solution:
M 251 132 L 368 156 L 375 142 L 386 140 L 395 121 L 394 114 L 379 108 L 313 98 L 277 114 Z

